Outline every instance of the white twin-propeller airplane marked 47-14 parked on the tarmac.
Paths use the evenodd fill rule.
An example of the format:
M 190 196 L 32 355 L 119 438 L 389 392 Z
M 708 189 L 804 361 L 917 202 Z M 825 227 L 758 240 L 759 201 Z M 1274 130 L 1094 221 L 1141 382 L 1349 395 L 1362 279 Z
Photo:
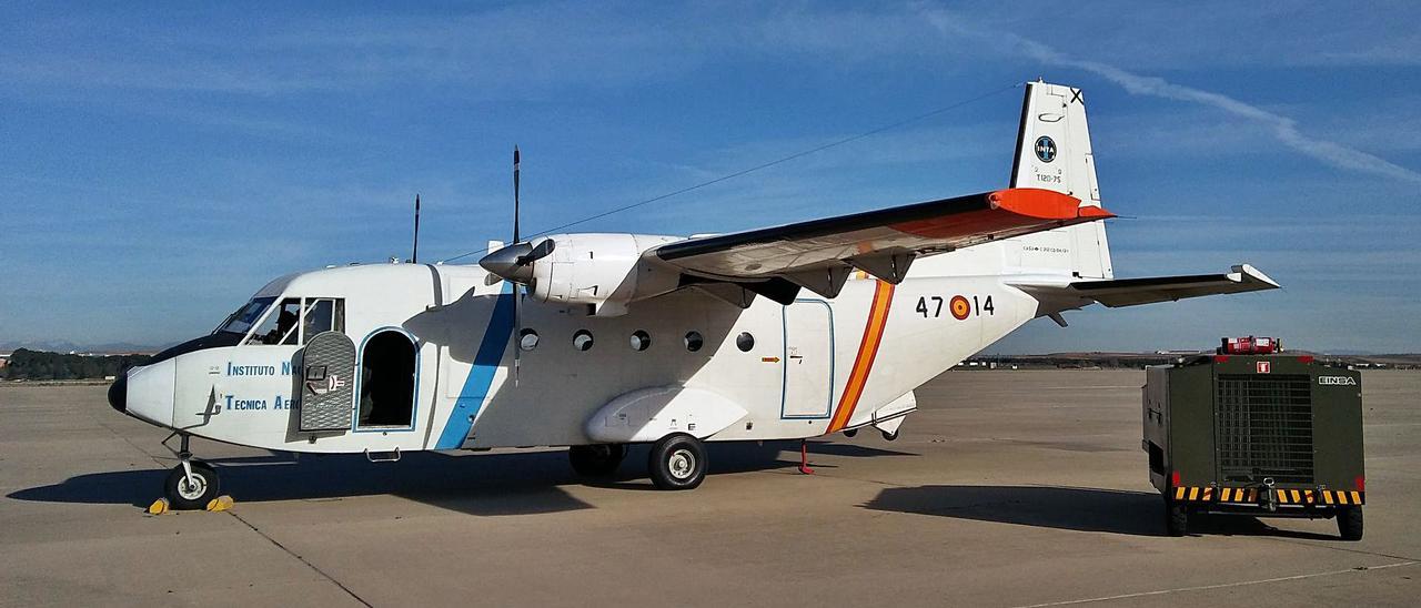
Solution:
M 915 388 L 1033 318 L 1279 287 L 1246 264 L 1115 278 L 1100 200 L 1081 91 L 1027 82 L 1005 189 L 696 237 L 520 240 L 514 210 L 477 266 L 276 278 L 108 399 L 180 438 L 173 509 L 220 489 L 193 436 L 371 460 L 567 446 L 590 477 L 651 445 L 655 487 L 688 490 L 710 442 L 894 439 Z

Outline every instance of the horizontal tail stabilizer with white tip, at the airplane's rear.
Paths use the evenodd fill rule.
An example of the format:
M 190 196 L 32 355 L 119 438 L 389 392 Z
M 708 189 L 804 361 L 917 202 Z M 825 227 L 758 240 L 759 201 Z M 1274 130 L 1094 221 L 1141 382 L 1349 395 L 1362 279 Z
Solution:
M 1276 288 L 1279 288 L 1277 283 L 1248 264 L 1235 266 L 1228 274 L 1076 281 L 1067 287 L 1073 295 L 1094 300 L 1111 308 Z

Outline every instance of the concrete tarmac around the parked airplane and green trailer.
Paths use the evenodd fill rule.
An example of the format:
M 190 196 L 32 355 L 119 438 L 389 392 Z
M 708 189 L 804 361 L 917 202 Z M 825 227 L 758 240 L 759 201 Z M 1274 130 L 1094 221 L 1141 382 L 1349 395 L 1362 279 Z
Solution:
M 102 386 L 0 388 L 3 605 L 1417 605 L 1421 374 L 1367 372 L 1366 537 L 1215 519 L 1165 537 L 1138 371 L 948 372 L 902 436 L 645 450 L 273 455 L 210 442 L 227 513 L 148 516 L 165 433 Z

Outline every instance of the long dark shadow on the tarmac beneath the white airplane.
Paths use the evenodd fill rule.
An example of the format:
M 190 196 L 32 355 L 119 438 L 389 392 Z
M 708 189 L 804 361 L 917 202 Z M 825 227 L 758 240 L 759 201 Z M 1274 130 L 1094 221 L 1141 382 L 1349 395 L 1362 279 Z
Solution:
M 855 445 L 811 442 L 811 455 L 848 457 L 915 456 Z M 710 476 L 791 469 L 797 442 L 712 443 Z M 632 446 L 618 472 L 605 479 L 573 473 L 563 450 L 530 453 L 406 453 L 395 463 L 371 463 L 362 455 L 290 455 L 210 460 L 222 474 L 222 492 L 242 501 L 323 500 L 394 494 L 468 514 L 534 514 L 593 509 L 560 486 L 588 484 L 647 489 L 645 446 Z M 787 459 L 786 456 L 796 456 Z M 814 465 L 827 466 L 827 465 Z M 146 507 L 161 496 L 168 470 L 135 469 L 87 473 L 51 486 L 9 494 L 43 503 L 132 504 Z

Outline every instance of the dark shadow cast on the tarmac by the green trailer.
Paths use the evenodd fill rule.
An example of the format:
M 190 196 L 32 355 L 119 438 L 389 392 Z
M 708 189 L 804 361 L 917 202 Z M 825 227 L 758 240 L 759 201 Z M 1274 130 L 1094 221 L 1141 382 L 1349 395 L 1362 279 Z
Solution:
M 1060 486 L 918 486 L 891 487 L 863 504 L 878 511 L 917 513 L 1057 530 L 1165 536 L 1158 493 Z M 1195 516 L 1191 536 L 1273 536 L 1334 540 L 1279 530 L 1249 516 Z

